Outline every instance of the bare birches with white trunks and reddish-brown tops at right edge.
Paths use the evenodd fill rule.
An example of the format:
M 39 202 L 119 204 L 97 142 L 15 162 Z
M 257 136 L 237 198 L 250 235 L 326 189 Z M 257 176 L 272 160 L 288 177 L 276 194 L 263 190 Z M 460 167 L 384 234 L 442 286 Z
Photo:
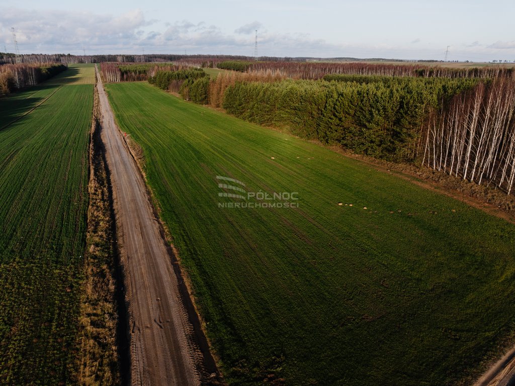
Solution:
M 423 140 L 423 141 L 422 141 Z M 480 82 L 432 111 L 419 148 L 422 164 L 513 192 L 515 81 Z

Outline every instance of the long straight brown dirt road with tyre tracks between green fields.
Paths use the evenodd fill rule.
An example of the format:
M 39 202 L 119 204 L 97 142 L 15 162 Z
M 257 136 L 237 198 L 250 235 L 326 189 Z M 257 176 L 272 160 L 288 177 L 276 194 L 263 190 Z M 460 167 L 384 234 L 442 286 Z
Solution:
M 115 125 L 99 77 L 97 88 L 101 139 L 110 172 L 128 301 L 130 383 L 199 385 L 193 327 L 183 305 L 169 249 L 143 176 Z

